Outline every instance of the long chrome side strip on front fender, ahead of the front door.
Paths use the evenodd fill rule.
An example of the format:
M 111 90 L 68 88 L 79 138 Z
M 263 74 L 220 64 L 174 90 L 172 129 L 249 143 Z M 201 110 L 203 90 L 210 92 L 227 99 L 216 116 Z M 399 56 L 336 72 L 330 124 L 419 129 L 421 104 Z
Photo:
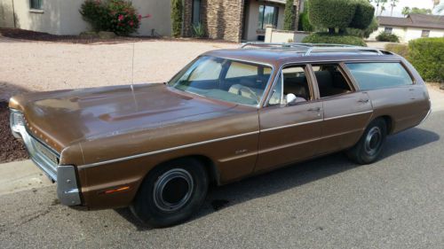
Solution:
M 210 139 L 207 141 L 202 141 L 202 142 L 198 142 L 198 143 L 194 143 L 194 144 L 185 144 L 185 145 L 180 145 L 180 146 L 176 146 L 176 147 L 171 147 L 171 148 L 167 148 L 167 149 L 163 149 L 163 150 L 159 150 L 159 151 L 155 151 L 155 152 L 146 152 L 146 153 L 132 155 L 129 157 L 123 157 L 123 158 L 115 159 L 115 160 L 104 160 L 104 161 L 100 161 L 100 162 L 85 164 L 85 165 L 78 166 L 77 168 L 83 169 L 83 168 L 87 168 L 87 167 L 96 167 L 96 166 L 100 166 L 100 165 L 104 165 L 104 164 L 108 164 L 108 163 L 115 163 L 115 162 L 124 161 L 124 160 L 133 160 L 133 159 L 151 156 L 151 155 L 155 155 L 155 154 L 159 154 L 159 153 L 163 153 L 163 152 L 171 152 L 171 151 L 175 151 L 175 150 L 186 149 L 186 148 L 197 146 L 197 145 L 210 144 L 210 143 L 214 143 L 214 142 L 218 142 L 218 141 L 224 141 L 224 140 L 232 139 L 232 138 L 236 138 L 236 137 L 255 135 L 258 133 L 259 133 L 259 131 L 252 131 L 252 132 L 242 133 L 242 134 L 238 134 L 238 135 L 234 135 L 234 136 L 225 136 L 225 137 Z

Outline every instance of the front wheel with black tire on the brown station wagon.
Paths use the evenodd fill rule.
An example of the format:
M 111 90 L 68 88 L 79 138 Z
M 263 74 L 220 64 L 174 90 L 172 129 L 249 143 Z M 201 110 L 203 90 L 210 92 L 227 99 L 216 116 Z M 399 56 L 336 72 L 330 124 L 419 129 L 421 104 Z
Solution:
M 155 167 L 140 185 L 132 213 L 150 227 L 185 222 L 202 206 L 208 175 L 198 160 L 181 159 Z

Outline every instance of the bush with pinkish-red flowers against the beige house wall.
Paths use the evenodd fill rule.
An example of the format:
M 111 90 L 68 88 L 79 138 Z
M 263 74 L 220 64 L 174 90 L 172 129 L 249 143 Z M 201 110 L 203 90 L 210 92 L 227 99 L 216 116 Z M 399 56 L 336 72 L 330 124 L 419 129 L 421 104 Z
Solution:
M 110 31 L 117 35 L 137 32 L 140 20 L 150 17 L 141 16 L 131 2 L 123 0 L 86 0 L 80 13 L 95 31 Z

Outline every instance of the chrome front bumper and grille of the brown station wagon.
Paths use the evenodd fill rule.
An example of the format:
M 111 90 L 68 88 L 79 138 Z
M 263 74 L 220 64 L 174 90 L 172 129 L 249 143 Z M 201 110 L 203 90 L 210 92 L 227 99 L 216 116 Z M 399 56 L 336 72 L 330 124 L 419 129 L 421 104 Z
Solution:
M 59 165 L 59 154 L 28 133 L 22 113 L 11 110 L 10 121 L 12 135 L 23 140 L 30 159 L 48 175 L 52 182 L 57 182 L 57 196 L 60 203 L 66 206 L 81 205 L 75 167 Z

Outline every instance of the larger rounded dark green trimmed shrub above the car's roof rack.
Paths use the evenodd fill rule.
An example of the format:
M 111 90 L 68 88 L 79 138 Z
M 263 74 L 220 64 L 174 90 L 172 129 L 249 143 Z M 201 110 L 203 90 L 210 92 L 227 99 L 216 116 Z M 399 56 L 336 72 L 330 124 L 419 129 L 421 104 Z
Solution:
M 345 28 L 355 11 L 356 4 L 351 0 L 310 0 L 308 18 L 313 26 Z

